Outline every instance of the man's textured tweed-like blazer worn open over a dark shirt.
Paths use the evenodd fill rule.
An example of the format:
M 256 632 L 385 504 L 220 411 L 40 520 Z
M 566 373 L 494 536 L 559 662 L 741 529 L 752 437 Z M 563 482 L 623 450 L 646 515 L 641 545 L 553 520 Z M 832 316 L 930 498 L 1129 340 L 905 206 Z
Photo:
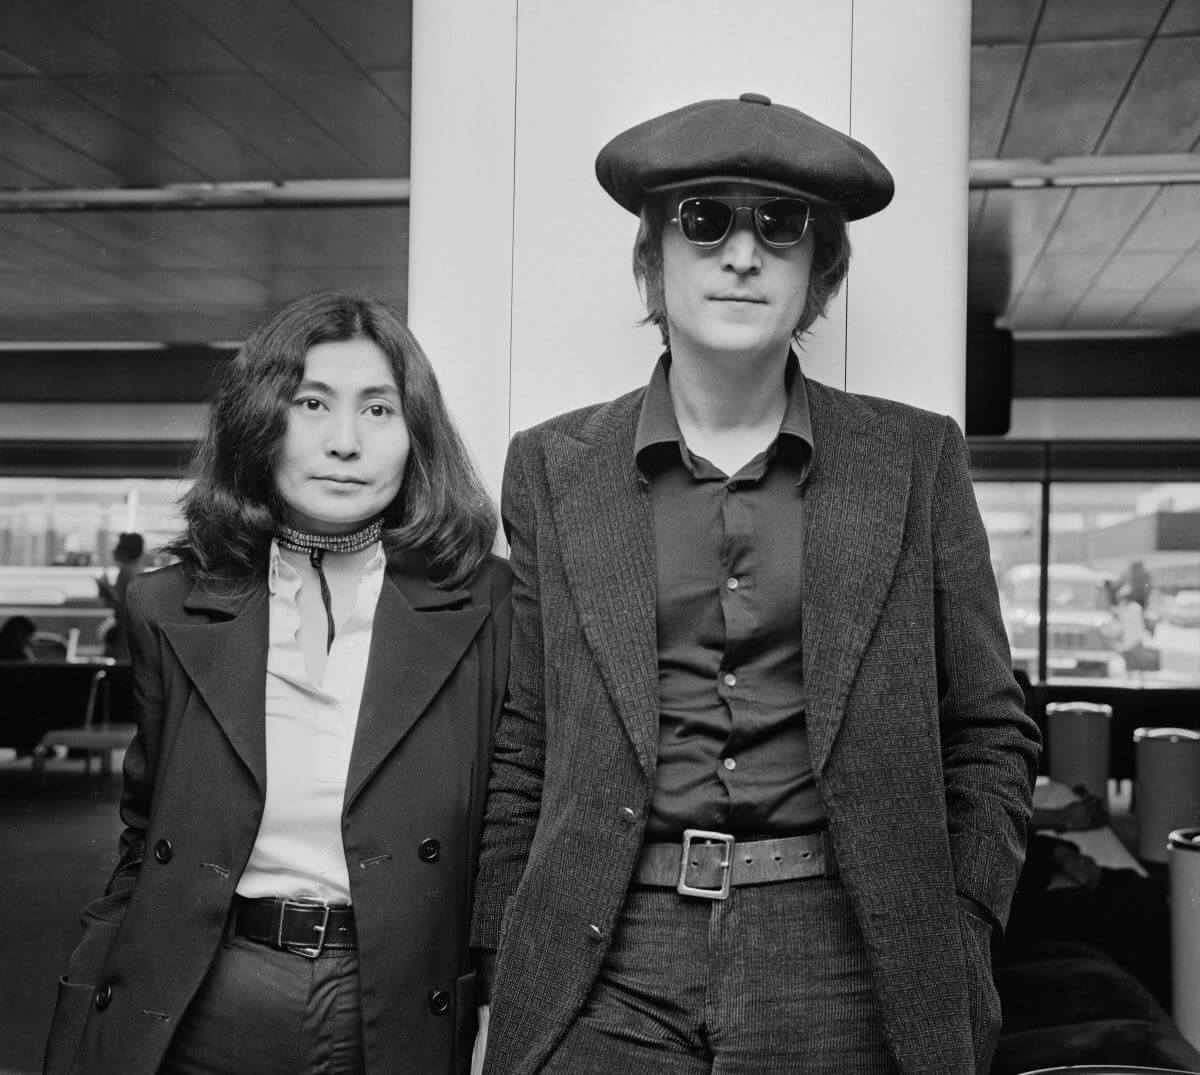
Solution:
M 905 1073 L 986 1070 L 984 915 L 1024 858 L 1037 727 L 1012 675 L 953 421 L 808 382 L 806 725 L 841 879 Z M 498 949 L 487 1068 L 532 1073 L 595 981 L 643 841 L 658 745 L 655 570 L 634 462 L 644 390 L 517 434 L 510 699 L 473 944 Z

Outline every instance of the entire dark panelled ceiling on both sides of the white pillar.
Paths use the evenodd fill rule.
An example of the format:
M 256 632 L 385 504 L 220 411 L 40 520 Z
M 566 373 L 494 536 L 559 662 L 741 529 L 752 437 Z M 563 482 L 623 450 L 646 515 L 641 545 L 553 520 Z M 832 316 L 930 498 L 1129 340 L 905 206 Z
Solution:
M 988 0 L 973 158 L 1200 150 L 1200 0 Z M 0 4 L 0 187 L 408 175 L 410 4 Z M 0 340 L 236 338 L 308 287 L 402 298 L 407 210 L 0 214 Z M 971 196 L 970 304 L 1200 329 L 1200 186 Z

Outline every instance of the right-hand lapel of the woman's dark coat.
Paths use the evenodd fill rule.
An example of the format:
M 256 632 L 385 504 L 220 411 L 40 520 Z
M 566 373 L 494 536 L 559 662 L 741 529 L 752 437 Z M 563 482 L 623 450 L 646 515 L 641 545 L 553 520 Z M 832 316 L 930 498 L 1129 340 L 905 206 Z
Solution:
M 347 807 L 446 681 L 488 609 L 467 590 L 439 590 L 418 557 L 391 567 L 379 591 L 366 683 L 346 780 Z

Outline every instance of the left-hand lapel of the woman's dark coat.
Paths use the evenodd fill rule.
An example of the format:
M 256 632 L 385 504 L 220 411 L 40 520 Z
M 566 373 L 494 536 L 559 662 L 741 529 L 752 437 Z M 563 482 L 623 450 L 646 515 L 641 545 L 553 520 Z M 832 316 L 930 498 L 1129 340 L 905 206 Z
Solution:
M 168 623 L 163 625 L 163 635 L 263 793 L 266 788 L 266 587 L 258 585 L 239 596 L 193 589 L 184 608 L 210 619 Z

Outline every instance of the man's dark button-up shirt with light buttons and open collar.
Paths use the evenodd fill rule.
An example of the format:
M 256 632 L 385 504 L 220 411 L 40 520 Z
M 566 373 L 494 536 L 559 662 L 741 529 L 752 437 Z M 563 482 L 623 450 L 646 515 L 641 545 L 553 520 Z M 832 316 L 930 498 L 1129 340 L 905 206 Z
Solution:
M 648 840 L 826 823 L 804 723 L 804 480 L 812 427 L 794 355 L 767 449 L 726 475 L 689 451 L 654 371 L 635 452 L 654 515 L 659 750 Z

